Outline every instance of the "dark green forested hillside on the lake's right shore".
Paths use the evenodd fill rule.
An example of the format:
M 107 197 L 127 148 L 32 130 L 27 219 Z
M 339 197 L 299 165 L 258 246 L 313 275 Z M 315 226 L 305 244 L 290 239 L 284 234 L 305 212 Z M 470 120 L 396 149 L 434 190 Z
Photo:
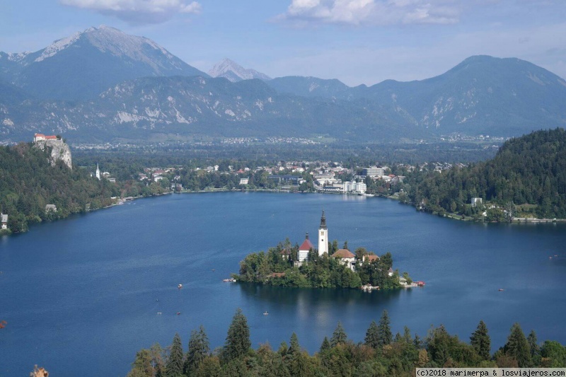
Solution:
M 415 174 L 407 181 L 417 207 L 439 214 L 451 212 L 488 220 L 514 215 L 566 218 L 566 131 L 557 128 L 510 139 L 495 158 L 457 166 L 442 173 Z M 483 207 L 472 207 L 480 197 Z M 485 202 L 497 208 L 485 207 Z

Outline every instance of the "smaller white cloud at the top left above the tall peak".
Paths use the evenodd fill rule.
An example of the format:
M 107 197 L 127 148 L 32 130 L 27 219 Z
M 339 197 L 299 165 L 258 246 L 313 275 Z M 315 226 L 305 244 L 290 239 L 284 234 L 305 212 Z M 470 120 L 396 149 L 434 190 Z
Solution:
M 133 24 L 163 23 L 178 13 L 200 13 L 197 1 L 186 0 L 59 0 L 61 4 L 90 9 Z

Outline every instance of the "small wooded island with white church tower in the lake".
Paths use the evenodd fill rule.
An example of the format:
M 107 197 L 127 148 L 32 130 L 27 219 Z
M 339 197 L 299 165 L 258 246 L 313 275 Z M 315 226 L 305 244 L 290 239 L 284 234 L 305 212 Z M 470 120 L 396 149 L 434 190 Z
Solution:
M 359 247 L 348 250 L 347 241 L 338 248 L 337 240 L 328 241 L 328 227 L 323 211 L 318 229 L 318 248 L 306 233 L 303 243 L 292 246 L 289 238 L 275 247 L 251 253 L 240 262 L 237 282 L 301 288 L 398 289 L 423 286 L 412 282 L 409 274 L 393 270 L 391 253 L 381 256 Z

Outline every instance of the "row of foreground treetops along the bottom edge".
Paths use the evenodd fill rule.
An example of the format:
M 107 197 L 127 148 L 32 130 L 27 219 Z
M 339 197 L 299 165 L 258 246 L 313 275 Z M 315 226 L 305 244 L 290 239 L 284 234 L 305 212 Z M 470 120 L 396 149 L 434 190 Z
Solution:
M 393 335 L 387 311 L 379 323 L 372 321 L 363 342 L 354 343 L 339 322 L 330 339 L 325 337 L 312 356 L 301 348 L 293 332 L 277 350 L 270 344 L 251 347 L 246 316 L 238 309 L 223 347 L 211 350 L 204 327 L 192 330 L 187 352 L 178 334 L 170 347 L 154 344 L 137 352 L 128 377 L 183 376 L 414 376 L 417 367 L 566 367 L 566 347 L 546 340 L 536 332 L 525 336 L 518 323 L 512 325 L 507 342 L 491 353 L 487 325 L 480 321 L 470 342 L 450 335 L 444 326 L 431 327 L 425 337 Z

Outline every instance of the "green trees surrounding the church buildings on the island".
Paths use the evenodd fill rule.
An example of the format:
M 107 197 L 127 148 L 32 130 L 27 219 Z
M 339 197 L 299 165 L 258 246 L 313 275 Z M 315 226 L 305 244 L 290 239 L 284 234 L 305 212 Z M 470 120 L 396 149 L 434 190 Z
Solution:
M 347 249 L 347 243 L 344 245 Z M 339 258 L 329 257 L 338 250 L 337 241 L 328 243 L 329 253 L 318 255 L 314 249 L 308 253 L 308 262 L 297 267 L 299 245 L 291 247 L 289 239 L 270 248 L 267 253 L 251 253 L 240 262 L 240 273 L 234 275 L 239 282 L 251 282 L 275 286 L 294 286 L 301 288 L 359 288 L 370 284 L 381 289 L 400 288 L 399 274 L 388 274 L 393 266 L 391 253 L 364 260 L 366 255 L 374 255 L 365 248 L 357 248 L 355 271 L 343 265 Z M 410 284 L 410 277 L 404 274 Z

